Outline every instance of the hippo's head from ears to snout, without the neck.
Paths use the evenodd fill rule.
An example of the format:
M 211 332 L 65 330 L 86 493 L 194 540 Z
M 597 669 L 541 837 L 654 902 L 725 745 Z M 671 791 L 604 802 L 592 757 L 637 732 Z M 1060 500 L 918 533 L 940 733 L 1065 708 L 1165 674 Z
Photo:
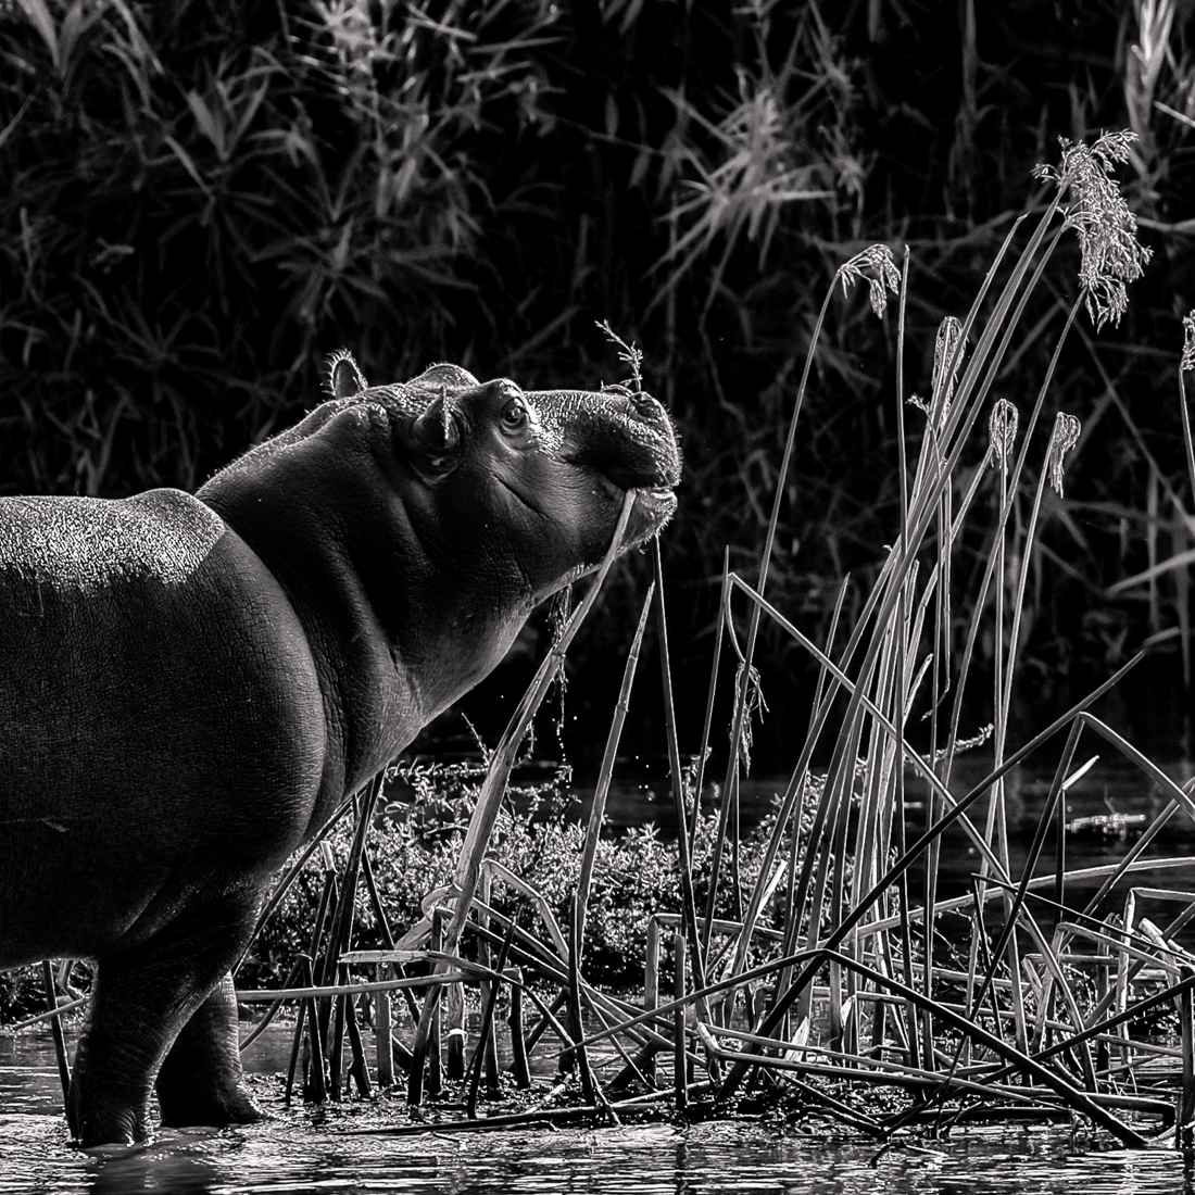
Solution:
M 496 551 L 516 553 L 533 601 L 601 562 L 629 490 L 624 547 L 649 539 L 676 508 L 675 433 L 648 394 L 525 391 L 451 364 L 368 387 L 348 355 L 333 360 L 331 388 L 385 410 L 405 474 L 397 484 L 421 539 L 452 552 L 492 537 Z

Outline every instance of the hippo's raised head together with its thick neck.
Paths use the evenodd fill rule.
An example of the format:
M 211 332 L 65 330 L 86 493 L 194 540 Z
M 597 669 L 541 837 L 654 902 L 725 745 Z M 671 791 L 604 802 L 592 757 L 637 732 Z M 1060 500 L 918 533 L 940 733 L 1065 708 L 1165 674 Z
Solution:
M 629 492 L 621 547 L 663 526 L 680 456 L 663 407 L 621 387 L 528 392 L 448 364 L 370 387 L 347 354 L 330 380 L 331 402 L 198 497 L 299 611 L 333 704 L 357 711 L 343 721 L 391 728 L 347 748 L 368 776 L 601 563 Z M 363 712 L 370 691 L 390 695 Z

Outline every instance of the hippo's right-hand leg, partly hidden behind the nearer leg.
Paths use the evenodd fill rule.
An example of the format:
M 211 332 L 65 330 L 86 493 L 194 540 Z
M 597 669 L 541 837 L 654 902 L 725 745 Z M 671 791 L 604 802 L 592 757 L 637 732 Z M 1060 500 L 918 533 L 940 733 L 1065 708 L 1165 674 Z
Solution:
M 247 1124 L 262 1113 L 245 1090 L 237 1032 L 237 995 L 225 974 L 183 1027 L 158 1072 L 161 1122 Z

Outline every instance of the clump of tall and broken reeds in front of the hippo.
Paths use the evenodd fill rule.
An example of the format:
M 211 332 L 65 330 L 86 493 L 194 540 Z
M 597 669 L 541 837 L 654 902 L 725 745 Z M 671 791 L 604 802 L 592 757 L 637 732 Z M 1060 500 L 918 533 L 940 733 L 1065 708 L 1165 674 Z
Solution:
M 860 617 L 845 636 L 836 632 L 835 625 L 825 644 L 811 642 L 765 596 L 772 535 L 816 353 L 819 321 L 789 427 L 782 484 L 756 581 L 750 584 L 730 570 L 723 578 L 724 619 L 718 644 L 728 644 L 737 657 L 731 725 L 735 747 L 721 786 L 710 875 L 703 877 L 709 887 L 704 909 L 697 906 L 698 877 L 688 851 L 710 718 L 697 752 L 694 784 L 686 786 L 670 707 L 658 553 L 656 583 L 646 595 L 627 657 L 602 761 L 576 897 L 569 924 L 563 927 L 537 893 L 533 880 L 511 874 L 497 858 L 486 858 L 513 747 L 546 690 L 563 646 L 545 661 L 491 761 L 454 881 L 433 902 L 442 903 L 445 914 L 430 915 L 397 943 L 394 951 L 376 956 L 382 962 L 411 960 L 417 956 L 403 951 L 417 948 L 433 963 L 430 974 L 417 981 L 435 986 L 419 1010 L 409 1073 L 411 1101 L 423 1097 L 428 1080 L 431 1090 L 439 1090 L 439 1062 L 434 1060 L 431 1070 L 424 1068 L 429 1047 L 435 1049 L 437 1042 L 439 993 L 445 985 L 472 972 L 486 983 L 505 980 L 514 991 L 529 995 L 543 1012 L 532 1038 L 550 1028 L 559 1038 L 565 1062 L 578 1068 L 582 1108 L 560 1115 L 593 1114 L 617 1120 L 642 1101 L 668 1098 L 684 1109 L 698 1096 L 727 1105 L 754 1074 L 881 1138 L 925 1117 L 950 1123 L 981 1115 L 1050 1119 L 1062 1111 L 1089 1117 L 1128 1145 L 1144 1145 L 1159 1127 L 1169 1132 L 1176 1124 L 1178 1139 L 1188 1139 L 1195 1115 L 1189 999 L 1195 987 L 1190 967 L 1195 958 L 1173 938 L 1195 917 L 1195 890 L 1134 885 L 1132 877 L 1145 866 L 1145 846 L 1177 811 L 1195 815 L 1195 803 L 1183 788 L 1090 712 L 1096 699 L 1132 664 L 1028 742 L 1013 748 L 1009 741 L 1025 577 L 1038 513 L 1047 485 L 1061 496 L 1067 454 L 1081 442 L 1078 421 L 1062 411 L 1055 413 L 1044 445 L 1041 436 L 1035 436 L 1047 409 L 1054 364 L 1080 307 L 1087 307 L 1097 325 L 1120 318 L 1126 286 L 1140 274 L 1147 258 L 1136 246 L 1132 217 L 1109 178 L 1110 166 L 1124 159 L 1128 143 L 1124 135 L 1113 134 L 1090 149 L 1066 145 L 1060 167 L 1042 171 L 1055 194 L 1003 284 L 994 289 L 1017 228 L 1010 232 L 972 310 L 964 318 L 943 324 L 930 396 L 911 398 L 925 424 L 917 459 L 906 461 L 902 456 L 897 461 L 902 517 L 893 528 L 893 546 Z M 1083 245 L 1079 294 L 1060 329 L 1053 362 L 1034 405 L 1022 417 L 1007 399 L 991 404 L 988 399 L 1028 298 L 1059 238 L 1070 228 L 1079 233 Z M 868 283 L 877 314 L 883 314 L 890 295 L 899 296 L 902 350 L 908 258 L 901 271 L 885 246 L 874 246 L 846 262 L 835 284 L 841 282 L 847 288 L 858 281 Z M 822 318 L 826 310 L 823 306 Z M 1189 321 L 1189 332 L 1191 326 Z M 638 357 L 626 345 L 623 349 L 624 360 L 635 363 L 632 384 L 638 386 Z M 1181 376 L 1182 369 L 1190 366 L 1189 356 L 1190 341 Z M 897 378 L 902 375 L 900 368 Z M 896 399 L 897 418 L 903 421 L 900 385 Z M 991 468 L 976 470 L 958 497 L 956 470 L 976 433 L 988 437 L 982 456 Z M 903 435 L 899 443 L 903 446 Z M 1035 458 L 1038 479 L 1028 517 L 1018 529 L 1011 517 L 1015 495 Z M 957 651 L 951 633 L 951 558 L 967 520 L 985 505 L 992 528 L 987 564 L 980 593 L 972 601 L 962 650 Z M 736 596 L 749 602 L 748 627 L 741 643 L 731 617 Z M 587 602 L 592 598 L 593 592 Z M 682 890 L 679 914 L 657 914 L 650 920 L 644 1007 L 639 1010 L 584 981 L 584 930 L 603 797 L 652 607 L 664 675 Z M 739 777 L 747 760 L 750 710 L 759 700 L 754 694 L 753 656 L 765 618 L 813 656 L 821 678 L 810 725 L 770 838 L 760 847 L 760 858 L 752 860 L 755 878 L 744 883 L 736 803 Z M 968 740 L 961 725 L 963 693 L 985 618 L 993 621 L 995 643 L 994 717 L 992 727 Z M 576 617 L 570 627 L 575 625 Z M 718 667 L 715 658 L 715 678 Z M 711 681 L 711 704 L 712 692 Z M 907 737 L 911 712 L 918 706 L 930 711 L 927 749 L 914 748 Z M 1064 734 L 1066 742 L 1054 783 L 1018 875 L 1010 852 L 1004 780 L 1012 767 Z M 1078 754 L 1083 736 L 1092 734 L 1163 786 L 1171 801 L 1124 859 L 1087 869 L 1080 877 L 1066 868 L 1065 795 L 1095 764 L 1095 759 L 1080 762 Z M 991 765 L 981 782 L 958 795 L 951 788 L 951 773 L 958 752 L 968 746 L 989 749 Z M 825 776 L 815 777 L 811 761 L 819 748 L 829 750 L 829 765 Z M 913 842 L 907 841 L 908 828 L 914 825 L 907 801 L 909 785 L 924 793 L 926 810 L 924 831 Z M 367 799 L 361 813 L 368 808 Z M 976 813 L 982 816 L 975 819 Z M 978 866 L 969 896 L 940 900 L 939 852 L 943 834 L 952 827 L 967 835 Z M 1053 866 L 1040 866 L 1050 839 L 1055 847 Z M 1151 869 L 1179 865 L 1185 865 L 1185 859 L 1148 860 Z M 914 868 L 921 875 L 919 890 L 911 884 Z M 489 899 L 478 899 L 483 876 L 489 876 L 490 883 L 514 885 L 523 895 L 529 914 L 525 920 L 534 929 L 496 913 Z M 1101 881 L 1096 896 L 1081 907 L 1068 905 L 1068 888 L 1079 878 L 1093 877 Z M 719 920 L 715 911 L 719 891 L 727 885 L 733 889 L 730 905 L 736 913 L 730 920 Z M 1116 912 L 1108 908 L 1113 899 L 1121 901 Z M 1140 915 L 1139 906 L 1146 900 L 1178 902 L 1182 907 L 1169 924 L 1158 926 Z M 471 909 L 476 909 L 476 921 L 470 920 Z M 937 927 L 948 913 L 969 919 L 964 956 L 943 958 L 936 949 Z M 989 929 L 993 913 L 1003 923 L 999 931 Z M 461 961 L 459 948 L 466 927 L 490 949 L 497 948 L 492 966 L 486 961 L 479 967 Z M 428 934 L 433 936 L 430 946 Z M 674 972 L 670 1000 L 660 989 L 661 946 L 668 944 L 669 934 Z M 508 969 L 510 962 L 517 963 L 517 972 Z M 326 978 L 332 974 L 325 972 Z M 533 976 L 547 981 L 557 997 L 538 994 L 534 985 L 528 986 Z M 1164 985 L 1160 993 L 1159 981 Z M 385 982 L 394 987 L 404 981 Z M 476 1059 L 483 1058 L 490 1035 L 492 992 L 490 987 Z M 308 994 L 317 994 L 315 989 Z M 1164 1048 L 1130 1040 L 1129 1023 L 1164 1001 L 1176 1001 L 1179 1009 L 1181 1044 Z M 613 1042 L 621 1059 L 617 1085 L 642 1086 L 639 1097 L 615 1101 L 606 1092 L 588 1054 L 602 1041 Z M 312 1048 L 317 1047 L 314 1042 Z M 667 1086 L 657 1085 L 656 1056 L 661 1052 L 674 1056 L 672 1084 Z M 521 1056 L 520 1050 L 516 1054 Z M 1182 1059 L 1177 1083 L 1177 1076 L 1165 1073 L 1162 1065 L 1176 1054 Z M 482 1065 L 476 1061 L 474 1077 Z M 1171 1072 L 1177 1070 L 1170 1066 Z M 825 1079 L 846 1081 L 857 1089 L 895 1087 L 907 1099 L 899 1113 L 872 1114 L 860 1110 L 858 1103 L 844 1104 L 827 1089 Z M 523 1071 L 520 1081 L 525 1080 Z M 476 1078 L 471 1111 L 474 1107 Z M 866 1107 L 865 1102 L 862 1107 Z M 550 1119 L 552 1114 L 537 1109 L 526 1115 Z M 1154 1123 L 1148 1123 L 1150 1117 Z

